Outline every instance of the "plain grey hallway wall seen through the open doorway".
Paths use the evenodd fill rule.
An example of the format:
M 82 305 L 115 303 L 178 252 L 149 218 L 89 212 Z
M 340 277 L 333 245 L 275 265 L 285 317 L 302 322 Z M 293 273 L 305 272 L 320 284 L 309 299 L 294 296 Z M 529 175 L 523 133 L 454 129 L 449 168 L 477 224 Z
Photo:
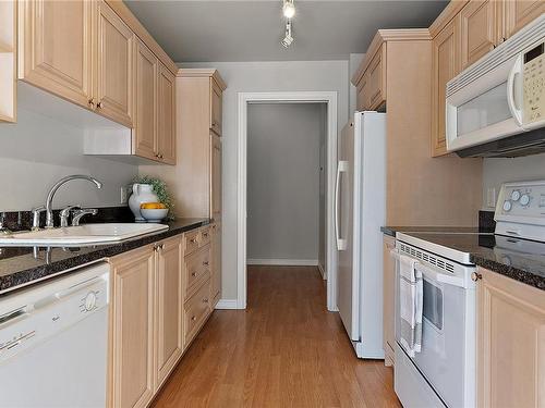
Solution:
M 322 106 L 249 106 L 249 262 L 318 261 Z

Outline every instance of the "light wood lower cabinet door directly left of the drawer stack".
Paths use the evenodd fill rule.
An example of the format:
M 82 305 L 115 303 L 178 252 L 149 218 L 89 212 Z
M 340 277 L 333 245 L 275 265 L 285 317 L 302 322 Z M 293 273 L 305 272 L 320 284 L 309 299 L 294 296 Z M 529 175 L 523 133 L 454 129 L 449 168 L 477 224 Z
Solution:
M 158 390 L 182 355 L 182 239 L 167 239 L 157 246 L 156 273 L 156 382 Z

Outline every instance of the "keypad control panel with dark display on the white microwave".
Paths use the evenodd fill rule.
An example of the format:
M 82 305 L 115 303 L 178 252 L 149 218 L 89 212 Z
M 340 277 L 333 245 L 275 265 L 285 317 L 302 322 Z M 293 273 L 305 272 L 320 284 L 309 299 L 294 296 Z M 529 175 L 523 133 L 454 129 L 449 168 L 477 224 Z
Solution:
M 524 52 L 523 122 L 545 119 L 545 42 Z

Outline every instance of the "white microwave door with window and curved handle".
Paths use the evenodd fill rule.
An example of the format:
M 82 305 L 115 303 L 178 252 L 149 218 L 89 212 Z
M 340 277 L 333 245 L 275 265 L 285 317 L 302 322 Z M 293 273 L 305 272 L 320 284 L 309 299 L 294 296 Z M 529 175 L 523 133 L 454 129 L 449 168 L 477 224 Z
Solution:
M 467 71 L 470 70 L 475 71 L 473 65 Z M 449 83 L 446 100 L 448 151 L 524 132 L 520 70 L 520 59 L 513 57 L 476 78 L 468 78 L 464 71 Z M 461 85 L 463 82 L 468 83 Z

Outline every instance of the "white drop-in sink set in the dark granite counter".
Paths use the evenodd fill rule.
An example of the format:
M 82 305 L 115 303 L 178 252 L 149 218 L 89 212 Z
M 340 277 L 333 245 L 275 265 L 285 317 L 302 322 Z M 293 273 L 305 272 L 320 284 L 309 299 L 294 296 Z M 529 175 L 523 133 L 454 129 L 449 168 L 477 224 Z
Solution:
M 85 246 L 117 244 L 168 230 L 165 224 L 85 224 L 0 235 L 0 246 Z

